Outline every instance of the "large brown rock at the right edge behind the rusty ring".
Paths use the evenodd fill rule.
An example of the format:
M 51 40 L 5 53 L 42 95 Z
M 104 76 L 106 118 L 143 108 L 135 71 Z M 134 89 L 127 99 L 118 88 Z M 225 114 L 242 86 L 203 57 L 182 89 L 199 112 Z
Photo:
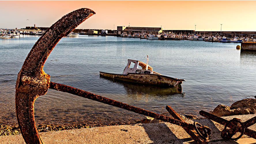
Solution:
M 256 99 L 246 98 L 233 103 L 230 107 L 218 105 L 212 114 L 217 116 L 244 115 L 256 113 Z

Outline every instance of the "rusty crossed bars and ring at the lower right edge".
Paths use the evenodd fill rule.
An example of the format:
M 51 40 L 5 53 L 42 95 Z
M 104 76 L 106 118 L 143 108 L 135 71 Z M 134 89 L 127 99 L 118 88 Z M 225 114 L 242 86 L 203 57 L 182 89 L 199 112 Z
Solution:
M 243 123 L 241 122 L 241 126 L 237 126 L 239 122 L 236 124 L 228 124 L 228 123 L 232 122 L 232 120 L 228 121 L 224 118 L 218 117 L 218 116 L 208 113 L 206 111 L 199 111 L 199 114 L 210 119 L 210 120 L 220 123 L 220 124 L 224 125 L 225 127 L 230 128 L 229 130 L 227 130 L 226 128 L 223 130 L 223 132 L 222 132 L 223 134 L 221 134 L 221 136 L 223 136 L 223 139 L 226 139 L 226 138 L 230 139 L 230 137 L 232 137 L 236 132 L 243 133 L 243 131 L 244 131 L 245 135 L 256 139 L 256 132 L 247 128 L 256 123 L 256 117 L 253 117 L 250 120 L 247 120 L 246 122 L 243 122 Z M 242 127 L 244 127 L 244 130 Z M 229 136 L 227 136 L 225 133 L 228 134 Z M 232 139 L 236 139 L 236 138 L 232 138 Z

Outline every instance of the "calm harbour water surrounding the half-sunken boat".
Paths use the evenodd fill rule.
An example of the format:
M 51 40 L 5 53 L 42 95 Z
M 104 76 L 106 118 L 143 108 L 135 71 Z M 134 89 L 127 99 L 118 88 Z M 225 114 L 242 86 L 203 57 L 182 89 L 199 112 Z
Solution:
M 0 39 L 0 124 L 16 124 L 17 73 L 39 37 Z M 235 43 L 160 41 L 121 37 L 64 37 L 47 59 L 52 82 L 70 85 L 156 113 L 172 106 L 199 115 L 256 95 L 256 54 L 241 53 Z M 163 75 L 186 79 L 182 94 L 168 89 L 114 82 L 99 71 L 123 72 L 127 59 L 146 62 Z M 127 124 L 142 115 L 72 94 L 48 90 L 35 102 L 38 124 Z

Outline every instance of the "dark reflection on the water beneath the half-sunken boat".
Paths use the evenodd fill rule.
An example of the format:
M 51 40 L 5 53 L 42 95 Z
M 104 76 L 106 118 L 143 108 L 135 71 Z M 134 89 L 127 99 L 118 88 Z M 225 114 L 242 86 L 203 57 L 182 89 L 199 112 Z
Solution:
M 111 79 L 108 77 L 102 77 L 101 79 L 107 79 L 109 82 L 117 83 L 123 86 L 128 94 L 128 96 L 142 96 L 142 95 L 150 95 L 150 96 L 170 96 L 174 94 L 182 94 L 182 88 L 162 88 L 159 86 L 151 86 L 151 85 L 142 85 L 124 82 L 116 79 Z

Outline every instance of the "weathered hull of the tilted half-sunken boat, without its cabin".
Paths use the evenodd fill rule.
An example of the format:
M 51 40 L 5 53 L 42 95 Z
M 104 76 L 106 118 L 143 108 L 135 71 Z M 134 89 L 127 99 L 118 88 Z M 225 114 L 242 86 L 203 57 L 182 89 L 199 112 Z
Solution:
M 144 73 L 138 73 L 138 74 L 128 73 L 127 75 L 122 75 L 122 74 L 99 72 L 99 75 L 102 77 L 109 77 L 109 78 L 118 79 L 126 82 L 156 85 L 156 86 L 163 86 L 163 87 L 176 87 L 176 88 L 181 88 L 182 81 L 185 81 L 184 79 L 176 79 L 176 78 L 167 77 L 164 75 L 144 74 Z

